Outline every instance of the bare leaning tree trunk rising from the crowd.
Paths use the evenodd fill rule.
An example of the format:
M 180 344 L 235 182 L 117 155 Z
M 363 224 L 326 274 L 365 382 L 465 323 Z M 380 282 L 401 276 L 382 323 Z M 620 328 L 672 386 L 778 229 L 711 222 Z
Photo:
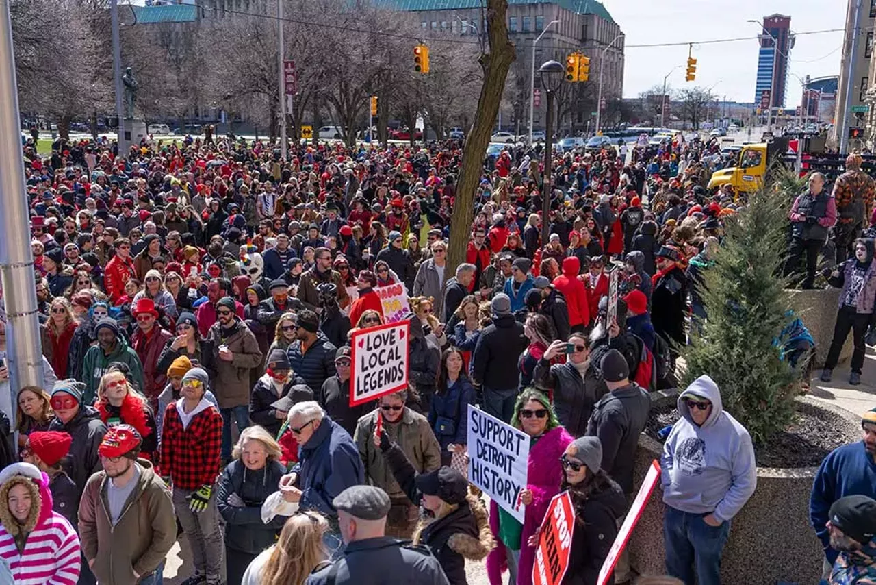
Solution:
M 499 104 L 502 102 L 508 69 L 517 58 L 514 46 L 508 39 L 507 18 L 505 18 L 507 11 L 508 0 L 487 0 L 490 53 L 482 54 L 480 57 L 481 67 L 484 68 L 484 84 L 477 98 L 475 123 L 465 140 L 453 219 L 450 220 L 448 262 L 444 273 L 447 275 L 455 275 L 456 267 L 465 261 L 471 222 L 474 218 L 475 193 L 484 168 L 484 156 L 490 144 Z

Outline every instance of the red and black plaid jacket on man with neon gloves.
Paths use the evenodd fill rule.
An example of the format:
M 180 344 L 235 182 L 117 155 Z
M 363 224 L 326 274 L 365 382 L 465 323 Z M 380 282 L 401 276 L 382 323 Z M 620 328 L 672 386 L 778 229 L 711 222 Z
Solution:
M 176 403 L 167 405 L 161 431 L 161 472 L 170 475 L 175 487 L 194 491 L 215 483 L 221 462 L 222 425 L 222 415 L 210 405 L 183 429 Z

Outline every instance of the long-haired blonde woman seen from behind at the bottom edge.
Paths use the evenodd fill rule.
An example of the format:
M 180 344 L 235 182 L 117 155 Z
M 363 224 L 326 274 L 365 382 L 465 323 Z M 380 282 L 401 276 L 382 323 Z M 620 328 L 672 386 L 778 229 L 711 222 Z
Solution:
M 303 585 L 314 569 L 329 558 L 322 535 L 329 522 L 318 512 L 307 511 L 286 520 L 277 544 L 250 563 L 241 585 Z

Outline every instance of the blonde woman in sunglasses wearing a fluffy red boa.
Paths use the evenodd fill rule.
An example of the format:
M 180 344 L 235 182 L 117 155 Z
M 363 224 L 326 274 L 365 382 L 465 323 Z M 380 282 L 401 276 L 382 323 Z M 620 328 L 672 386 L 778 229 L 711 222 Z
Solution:
M 121 363 L 107 369 L 97 386 L 95 410 L 108 427 L 131 424 L 137 429 L 143 438 L 139 456 L 152 460 L 159 446 L 158 427 L 149 402 L 131 384 L 129 374 L 128 367 Z

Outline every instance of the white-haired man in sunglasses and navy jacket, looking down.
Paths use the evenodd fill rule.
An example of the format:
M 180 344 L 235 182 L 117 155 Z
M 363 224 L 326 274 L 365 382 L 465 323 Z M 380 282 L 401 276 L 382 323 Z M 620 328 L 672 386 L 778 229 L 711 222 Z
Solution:
M 333 503 L 344 489 L 365 482 L 365 468 L 350 433 L 309 400 L 293 405 L 288 415 L 289 431 L 300 446 L 298 465 L 280 480 L 287 502 L 300 510 L 317 510 L 329 519 L 323 542 L 330 553 L 341 546 L 337 510 Z

